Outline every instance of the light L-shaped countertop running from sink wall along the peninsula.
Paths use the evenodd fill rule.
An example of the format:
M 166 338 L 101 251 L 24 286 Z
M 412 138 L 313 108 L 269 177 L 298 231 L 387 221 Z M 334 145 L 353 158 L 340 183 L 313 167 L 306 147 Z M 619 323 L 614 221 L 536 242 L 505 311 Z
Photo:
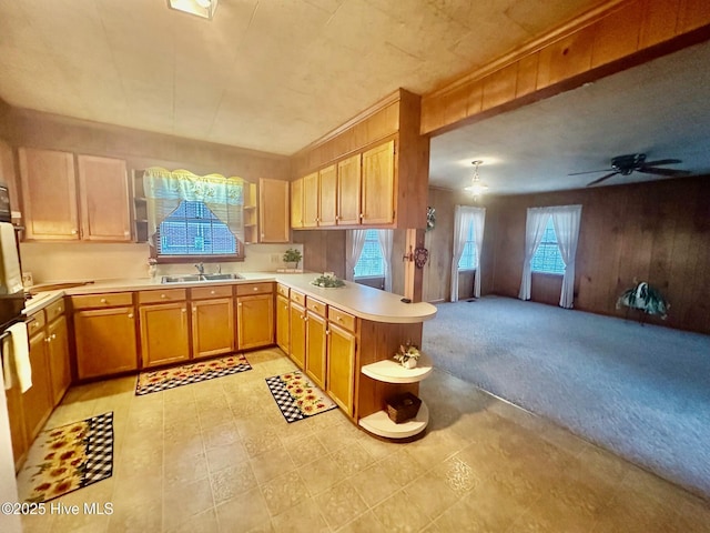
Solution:
M 54 291 L 40 291 L 26 303 L 26 314 L 32 314 L 63 295 L 94 294 L 101 292 L 125 292 L 145 290 L 184 289 L 204 285 L 240 284 L 257 281 L 277 281 L 307 296 L 321 300 L 329 305 L 373 322 L 417 323 L 430 320 L 436 315 L 436 308 L 430 303 L 404 303 L 402 295 L 345 282 L 345 286 L 326 289 L 311 284 L 318 276 L 316 272 L 241 272 L 242 280 L 200 281 L 192 283 L 161 283 L 161 279 L 139 278 L 119 280 L 95 280 L 80 286 Z

